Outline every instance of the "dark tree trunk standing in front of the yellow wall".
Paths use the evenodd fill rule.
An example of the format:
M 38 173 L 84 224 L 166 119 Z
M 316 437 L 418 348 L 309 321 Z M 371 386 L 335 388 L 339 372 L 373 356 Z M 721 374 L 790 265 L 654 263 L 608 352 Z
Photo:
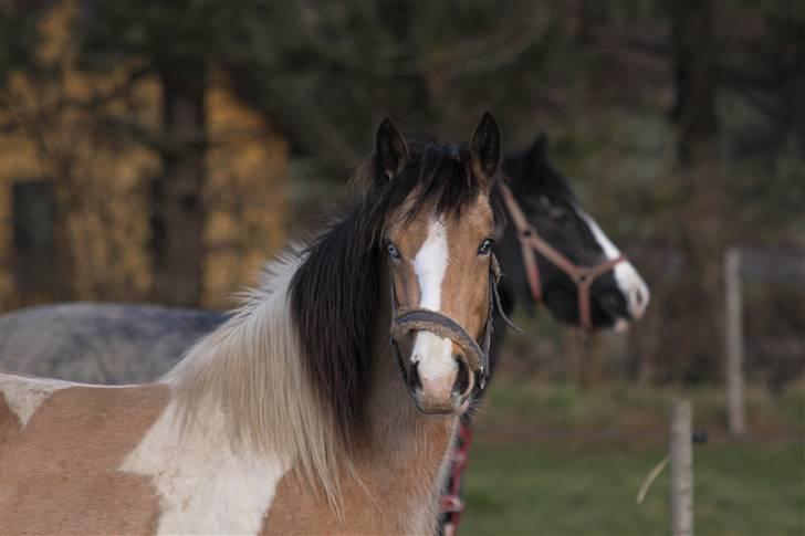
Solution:
M 151 189 L 153 297 L 197 306 L 203 283 L 205 83 L 164 78 L 163 174 Z

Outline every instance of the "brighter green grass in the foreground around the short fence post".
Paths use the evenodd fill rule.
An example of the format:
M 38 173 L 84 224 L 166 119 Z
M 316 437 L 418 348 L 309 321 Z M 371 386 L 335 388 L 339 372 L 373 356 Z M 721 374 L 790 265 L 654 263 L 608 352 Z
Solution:
M 642 479 L 665 453 L 479 441 L 466 481 L 461 533 L 662 535 L 668 470 L 641 505 Z M 698 534 L 805 534 L 802 444 L 697 446 Z

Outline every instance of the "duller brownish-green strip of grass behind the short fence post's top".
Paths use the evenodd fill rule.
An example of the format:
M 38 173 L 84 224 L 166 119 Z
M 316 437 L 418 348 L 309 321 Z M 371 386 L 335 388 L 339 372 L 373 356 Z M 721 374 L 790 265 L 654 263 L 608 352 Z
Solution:
M 495 433 L 531 430 L 530 435 L 551 440 L 584 435 L 634 444 L 665 444 L 668 413 L 675 398 L 690 399 L 693 427 L 707 429 L 717 440 L 728 440 L 725 396 L 722 389 L 686 390 L 625 382 L 582 389 L 568 382 L 542 382 L 495 377 L 489 400 L 478 419 L 479 429 Z M 745 392 L 750 439 L 801 439 L 805 433 L 805 382 L 791 386 L 780 398 L 764 388 Z

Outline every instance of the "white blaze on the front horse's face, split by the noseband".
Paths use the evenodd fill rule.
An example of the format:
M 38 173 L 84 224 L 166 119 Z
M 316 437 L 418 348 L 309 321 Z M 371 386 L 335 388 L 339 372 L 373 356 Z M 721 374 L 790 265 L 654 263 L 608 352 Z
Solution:
M 448 265 L 447 230 L 433 218 L 428 225 L 428 237 L 414 258 L 414 272 L 419 282 L 419 307 L 439 311 L 441 285 Z M 452 358 L 452 341 L 429 332 L 419 332 L 414 339 L 411 361 L 419 362 L 422 381 L 448 378 L 458 369 Z

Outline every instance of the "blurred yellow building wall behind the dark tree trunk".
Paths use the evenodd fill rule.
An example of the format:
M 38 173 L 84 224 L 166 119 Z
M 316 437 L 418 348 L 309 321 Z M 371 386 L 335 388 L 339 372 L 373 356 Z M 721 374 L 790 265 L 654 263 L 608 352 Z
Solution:
M 13 73 L 0 88 L 0 125 L 10 126 L 0 130 L 0 311 L 24 304 L 13 282 L 11 187 L 36 178 L 54 180 L 60 207 L 69 208 L 75 273 L 60 284 L 75 299 L 148 298 L 148 191 L 160 160 L 139 133 L 158 129 L 160 85 L 138 80 L 93 108 L 98 96 L 123 87 L 136 65 L 77 71 L 69 32 L 73 10 L 72 2 L 56 3 L 41 21 L 48 40 L 39 61 L 59 66 L 60 75 L 42 81 Z M 223 307 L 284 242 L 288 145 L 232 96 L 222 75 L 212 76 L 206 106 L 213 148 L 207 156 L 201 302 Z M 42 299 L 48 296 L 35 298 Z

